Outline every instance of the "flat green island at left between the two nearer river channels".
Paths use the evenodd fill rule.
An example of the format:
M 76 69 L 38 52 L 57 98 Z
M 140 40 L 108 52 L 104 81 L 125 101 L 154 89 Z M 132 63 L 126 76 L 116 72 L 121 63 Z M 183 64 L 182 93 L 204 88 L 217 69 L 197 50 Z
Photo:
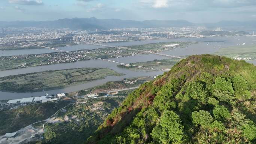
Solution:
M 0 90 L 36 92 L 74 86 L 106 76 L 121 76 L 109 68 L 76 68 L 0 77 Z

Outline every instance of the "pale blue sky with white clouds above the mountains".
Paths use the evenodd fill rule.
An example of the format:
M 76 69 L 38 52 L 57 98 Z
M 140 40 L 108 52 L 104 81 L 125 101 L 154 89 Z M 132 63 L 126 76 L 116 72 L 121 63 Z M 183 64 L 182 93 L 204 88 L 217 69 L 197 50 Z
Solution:
M 194 23 L 256 20 L 256 0 L 0 0 L 0 21 L 63 18 L 176 20 Z

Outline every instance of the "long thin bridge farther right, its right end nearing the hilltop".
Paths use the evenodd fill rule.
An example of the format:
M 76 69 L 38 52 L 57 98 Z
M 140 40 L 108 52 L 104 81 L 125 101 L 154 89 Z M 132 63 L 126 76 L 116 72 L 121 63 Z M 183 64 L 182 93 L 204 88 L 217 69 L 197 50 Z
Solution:
M 108 48 L 136 50 L 136 51 L 141 51 L 141 52 L 146 52 L 146 53 L 152 53 L 152 54 L 155 54 L 155 55 L 167 56 L 167 57 L 171 57 L 171 58 L 185 59 L 185 58 L 182 58 L 182 57 L 180 57 L 180 56 L 174 56 L 174 55 L 167 55 L 167 54 L 162 54 L 162 53 L 156 53 L 156 52 L 151 52 L 151 51 L 148 51 L 148 50 L 131 49 L 131 48 L 123 47 L 123 46 L 109 46 L 109 45 L 102 45 L 102 44 L 97 44 L 97 43 L 86 43 L 86 44 L 88 44 L 88 45 L 95 45 L 95 46 L 104 46 L 104 47 L 108 47 Z

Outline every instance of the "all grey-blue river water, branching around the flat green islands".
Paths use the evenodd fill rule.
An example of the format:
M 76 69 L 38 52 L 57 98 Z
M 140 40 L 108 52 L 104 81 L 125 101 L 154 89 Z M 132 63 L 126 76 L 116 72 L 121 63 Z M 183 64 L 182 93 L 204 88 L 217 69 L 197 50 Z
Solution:
M 182 39 L 161 39 L 161 40 L 143 40 L 143 41 L 131 41 L 131 42 L 119 42 L 119 43 L 105 43 L 104 45 L 110 46 L 131 46 L 131 45 L 144 45 L 149 43 L 159 43 L 159 42 L 198 42 L 193 45 L 188 45 L 186 48 L 177 48 L 173 50 L 164 51 L 162 53 L 168 55 L 175 56 L 186 56 L 186 55 L 194 55 L 194 54 L 205 54 L 205 53 L 214 53 L 217 52 L 220 48 L 226 48 L 229 46 L 237 46 L 246 43 L 245 45 L 249 45 L 252 43 L 256 43 L 256 37 L 205 37 L 202 39 L 198 38 L 182 38 Z M 94 45 L 74 45 L 74 46 L 66 46 L 59 49 L 63 50 L 81 50 L 81 49 L 96 49 L 103 48 L 101 46 Z M 39 54 L 39 53 L 51 53 L 57 52 L 55 50 L 50 49 L 30 49 L 30 50 L 6 50 L 0 51 L 0 56 L 10 56 L 10 55 L 21 55 L 21 54 Z M 124 62 L 124 63 L 132 63 L 132 62 L 144 62 L 144 61 L 152 61 L 153 59 L 166 59 L 168 57 L 159 56 L 159 55 L 136 55 L 136 56 L 128 56 L 121 58 L 111 58 L 110 60 Z M 248 61 L 256 65 L 256 61 Z M 64 89 L 56 89 L 52 91 L 42 91 L 42 92 L 26 92 L 26 93 L 12 93 L 12 92 L 0 92 L 0 100 L 1 99 L 15 99 L 15 98 L 25 98 L 31 96 L 42 96 L 45 93 L 48 94 L 58 94 L 58 93 L 67 93 L 73 91 L 79 91 L 82 89 L 91 88 L 93 86 L 101 85 L 109 81 L 122 80 L 124 78 L 129 77 L 140 77 L 140 76 L 154 76 L 162 74 L 162 71 L 151 71 L 151 72 L 143 72 L 143 71 L 131 71 L 123 68 L 116 67 L 116 63 L 106 62 L 101 60 L 89 60 L 89 61 L 78 61 L 74 63 L 65 63 L 65 64 L 54 64 L 54 65 L 44 65 L 38 67 L 28 67 L 14 70 L 6 70 L 0 71 L 0 77 L 16 75 L 16 74 L 25 74 L 25 73 L 33 73 L 40 72 L 46 70 L 63 70 L 68 68 L 82 68 L 82 67 L 104 67 L 115 70 L 119 73 L 125 74 L 124 76 L 108 76 L 104 79 L 94 80 L 92 82 L 70 86 Z

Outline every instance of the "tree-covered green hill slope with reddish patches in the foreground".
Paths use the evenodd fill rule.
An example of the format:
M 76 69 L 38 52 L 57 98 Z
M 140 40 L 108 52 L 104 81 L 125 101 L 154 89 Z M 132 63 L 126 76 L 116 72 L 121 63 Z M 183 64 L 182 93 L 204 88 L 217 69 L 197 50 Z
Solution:
M 255 144 L 256 67 L 189 56 L 132 92 L 86 143 Z

